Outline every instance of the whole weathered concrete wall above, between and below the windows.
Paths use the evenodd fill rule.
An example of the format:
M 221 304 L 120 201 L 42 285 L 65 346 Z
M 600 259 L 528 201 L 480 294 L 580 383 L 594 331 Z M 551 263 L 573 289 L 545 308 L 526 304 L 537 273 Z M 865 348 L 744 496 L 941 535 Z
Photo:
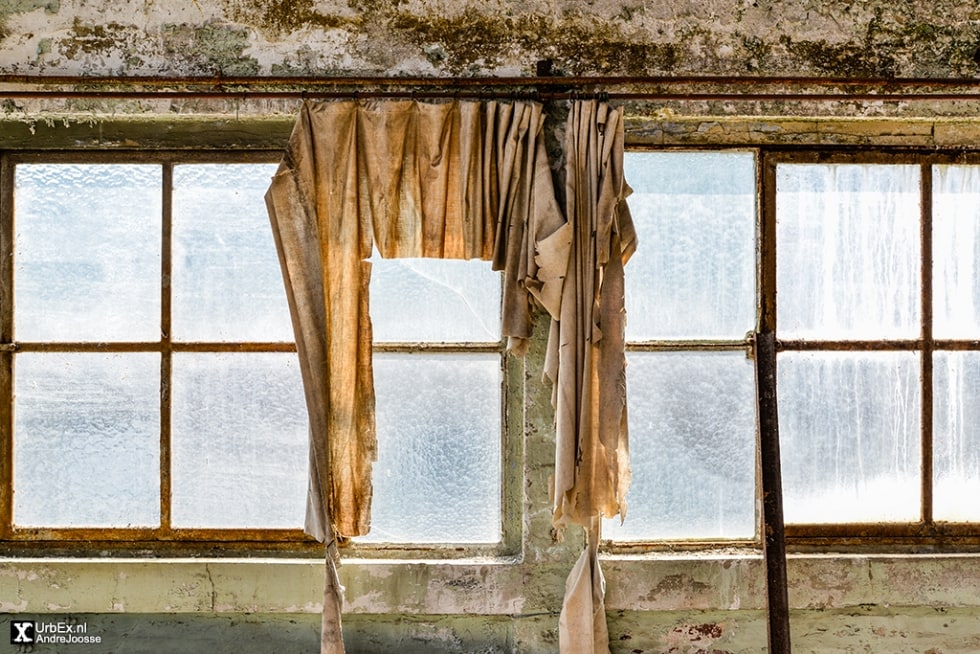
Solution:
M 567 75 L 970 78 L 978 48 L 980 9 L 960 0 L 0 1 L 0 75 L 526 76 L 548 59 Z M 182 147 L 203 134 L 227 147 L 276 147 L 297 104 L 10 99 L 0 105 L 0 148 Z M 648 145 L 968 148 L 980 137 L 972 99 L 648 100 L 629 111 L 629 138 Z M 556 543 L 549 529 L 542 342 L 539 334 L 520 391 L 518 551 L 346 560 L 351 651 L 557 650 L 564 576 L 581 540 Z M 796 649 L 980 651 L 978 563 L 969 554 L 793 555 Z M 614 652 L 765 651 L 758 551 L 608 556 L 604 566 Z M 86 651 L 313 652 L 322 574 L 315 560 L 3 559 L 0 639 L 12 616 L 31 616 L 104 637 L 104 649 Z

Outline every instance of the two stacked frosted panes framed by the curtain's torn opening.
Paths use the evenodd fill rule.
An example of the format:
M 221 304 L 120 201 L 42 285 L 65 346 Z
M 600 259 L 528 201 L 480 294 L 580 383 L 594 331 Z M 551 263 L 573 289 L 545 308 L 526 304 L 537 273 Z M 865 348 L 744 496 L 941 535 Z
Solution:
M 500 274 L 480 261 L 372 263 L 378 461 L 361 543 L 502 537 Z

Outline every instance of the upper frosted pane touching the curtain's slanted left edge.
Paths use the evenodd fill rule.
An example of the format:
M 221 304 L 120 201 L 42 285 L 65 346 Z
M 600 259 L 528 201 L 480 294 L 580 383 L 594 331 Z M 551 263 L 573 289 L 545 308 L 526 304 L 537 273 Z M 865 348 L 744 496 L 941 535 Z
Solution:
M 275 164 L 174 167 L 174 339 L 293 340 L 264 199 L 275 171 Z

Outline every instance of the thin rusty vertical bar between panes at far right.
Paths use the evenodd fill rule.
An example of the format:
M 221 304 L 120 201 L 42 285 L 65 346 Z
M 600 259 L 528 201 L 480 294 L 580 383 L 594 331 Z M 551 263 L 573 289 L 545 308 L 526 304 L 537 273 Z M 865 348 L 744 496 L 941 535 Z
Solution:
M 922 433 L 922 522 L 932 524 L 932 468 L 933 468 L 933 438 L 932 438 L 932 164 L 922 164 L 921 187 L 921 233 L 922 243 L 922 417 L 920 429 Z

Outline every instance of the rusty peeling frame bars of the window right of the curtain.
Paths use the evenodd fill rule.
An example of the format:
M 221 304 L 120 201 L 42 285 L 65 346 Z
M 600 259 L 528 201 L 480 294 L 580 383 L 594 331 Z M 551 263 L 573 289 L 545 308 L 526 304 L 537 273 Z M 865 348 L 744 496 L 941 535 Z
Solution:
M 627 149 L 631 151 L 655 150 L 655 151 L 745 151 L 746 147 L 742 144 L 726 144 L 724 146 L 713 146 L 700 141 L 698 144 L 683 143 L 683 138 L 677 144 L 669 146 L 650 147 L 634 142 L 629 143 L 627 135 Z M 639 139 L 634 139 L 639 141 Z M 860 163 L 860 164 L 905 164 L 915 165 L 921 168 L 920 186 L 921 194 L 921 217 L 920 230 L 923 234 L 923 247 L 921 252 L 922 262 L 919 266 L 921 283 L 920 299 L 922 317 L 924 321 L 930 321 L 932 310 L 932 286 L 931 286 L 931 236 L 927 235 L 931 230 L 932 215 L 932 167 L 943 164 L 968 164 L 980 166 L 980 152 L 965 149 L 942 150 L 939 148 L 914 149 L 908 147 L 814 147 L 814 146 L 783 146 L 775 144 L 772 146 L 750 148 L 757 153 L 757 201 L 759 206 L 759 231 L 757 234 L 757 248 L 759 252 L 757 278 L 759 284 L 759 319 L 760 328 L 775 328 L 776 315 L 776 167 L 785 163 L 800 162 L 820 162 L 820 163 Z M 642 245 L 638 251 L 638 256 L 642 256 Z M 627 271 L 628 273 L 628 271 Z M 770 322 L 771 321 L 771 322 Z M 763 324 L 769 323 L 769 324 Z M 939 351 L 980 351 L 980 342 L 970 339 L 943 339 L 939 340 L 932 336 L 931 326 L 925 327 L 923 335 L 908 342 L 896 343 L 894 340 L 865 340 L 848 342 L 842 340 L 828 340 L 820 342 L 804 342 L 799 340 L 780 340 L 777 334 L 777 351 L 798 352 L 808 350 L 822 351 L 851 351 L 860 352 L 866 350 L 909 350 L 918 352 L 922 355 L 923 373 L 920 374 L 920 393 L 922 395 L 921 412 L 922 417 L 919 422 L 921 430 L 922 452 L 920 476 L 920 504 L 918 506 L 919 519 L 907 522 L 869 522 L 869 523 L 821 523 L 821 524 L 802 524 L 788 523 L 785 525 L 786 539 L 790 547 L 798 551 L 824 551 L 834 548 L 835 551 L 887 551 L 907 552 L 919 551 L 922 547 L 928 547 L 930 551 L 975 551 L 980 547 L 980 522 L 944 522 L 933 518 L 933 444 L 932 444 L 932 413 L 933 413 L 933 389 L 931 373 L 931 355 Z M 729 344 L 732 347 L 736 344 Z M 749 342 L 739 346 L 748 346 Z M 680 341 L 674 342 L 649 342 L 643 344 L 633 344 L 633 349 L 652 349 L 681 351 L 688 350 L 691 344 Z M 784 486 L 786 473 L 783 473 Z M 629 541 L 614 542 L 606 541 L 605 548 L 611 553 L 637 553 L 644 551 L 696 551 L 696 550 L 717 550 L 730 547 L 750 547 L 758 548 L 762 545 L 761 539 L 761 483 L 759 471 L 756 472 L 756 537 L 751 540 L 730 540 L 730 541 L 695 541 L 695 540 L 656 540 L 656 541 Z

